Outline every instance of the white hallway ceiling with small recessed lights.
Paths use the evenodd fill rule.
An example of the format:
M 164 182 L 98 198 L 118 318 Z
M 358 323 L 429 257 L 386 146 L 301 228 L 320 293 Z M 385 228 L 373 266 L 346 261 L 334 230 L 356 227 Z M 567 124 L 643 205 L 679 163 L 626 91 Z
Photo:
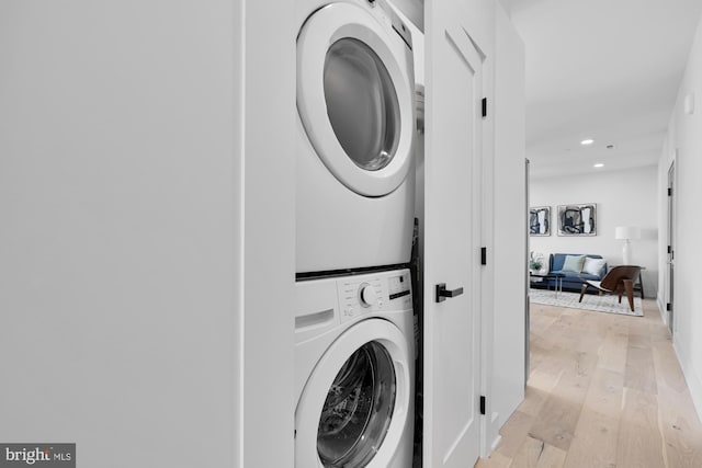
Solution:
M 656 164 L 702 0 L 500 2 L 524 42 L 532 178 Z

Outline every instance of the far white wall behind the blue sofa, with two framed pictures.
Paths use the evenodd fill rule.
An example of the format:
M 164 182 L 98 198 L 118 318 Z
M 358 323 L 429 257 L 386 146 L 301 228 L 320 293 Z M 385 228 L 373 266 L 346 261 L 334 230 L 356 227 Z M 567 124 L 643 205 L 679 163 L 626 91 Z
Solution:
M 595 169 L 593 169 L 595 171 Z M 623 241 L 618 226 L 638 226 L 632 241 L 632 261 L 644 266 L 646 297 L 658 289 L 658 175 L 655 167 L 562 178 L 531 179 L 530 205 L 551 206 L 551 236 L 530 237 L 530 250 L 543 253 L 596 253 L 610 265 L 621 264 Z M 557 206 L 597 203 L 597 236 L 558 236 Z M 665 232 L 664 232 L 665 233 Z

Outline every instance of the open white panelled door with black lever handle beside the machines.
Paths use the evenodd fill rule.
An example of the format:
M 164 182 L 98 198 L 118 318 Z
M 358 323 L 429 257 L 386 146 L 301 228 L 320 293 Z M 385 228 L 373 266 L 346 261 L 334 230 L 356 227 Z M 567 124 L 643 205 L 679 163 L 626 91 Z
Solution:
M 427 2 L 424 22 L 423 466 L 431 468 L 472 467 L 480 440 L 483 57 L 452 4 Z M 441 284 L 453 297 L 437 297 Z

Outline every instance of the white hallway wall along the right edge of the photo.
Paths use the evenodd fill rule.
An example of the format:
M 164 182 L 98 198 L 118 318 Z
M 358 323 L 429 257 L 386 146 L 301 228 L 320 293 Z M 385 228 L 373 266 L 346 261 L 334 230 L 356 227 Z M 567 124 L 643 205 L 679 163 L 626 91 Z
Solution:
M 693 95 L 693 114 L 684 112 L 684 100 Z M 677 152 L 677 157 L 676 157 Z M 668 128 L 666 147 L 659 162 L 659 180 L 667 181 L 670 162 L 676 163 L 676 270 L 675 270 L 675 320 L 673 346 L 684 370 L 686 379 L 698 414 L 702 415 L 702 288 L 700 288 L 700 264 L 702 249 L 700 235 L 702 219 L 702 19 L 698 25 L 690 50 L 684 78 L 680 84 L 676 106 Z M 666 227 L 667 199 L 658 197 L 663 215 L 659 222 Z M 665 232 L 665 231 L 664 231 Z M 666 260 L 666 246 L 659 246 L 660 267 Z M 663 286 L 661 286 L 663 290 Z M 665 304 L 665 298 L 660 298 Z

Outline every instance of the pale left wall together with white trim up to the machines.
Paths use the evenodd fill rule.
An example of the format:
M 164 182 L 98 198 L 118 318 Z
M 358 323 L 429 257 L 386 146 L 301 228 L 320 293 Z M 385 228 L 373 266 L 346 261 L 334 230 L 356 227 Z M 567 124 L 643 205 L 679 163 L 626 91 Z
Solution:
M 292 4 L 246 3 L 0 2 L 0 441 L 293 466 Z

